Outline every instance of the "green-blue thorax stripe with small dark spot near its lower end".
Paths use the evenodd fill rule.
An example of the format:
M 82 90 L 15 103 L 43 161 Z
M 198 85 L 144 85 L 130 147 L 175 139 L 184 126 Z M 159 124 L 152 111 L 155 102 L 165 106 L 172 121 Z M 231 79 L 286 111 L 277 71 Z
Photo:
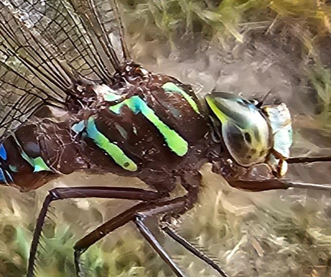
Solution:
M 137 170 L 136 163 L 128 158 L 115 143 L 110 142 L 109 139 L 97 130 L 93 117 L 90 117 L 87 121 L 86 132 L 89 138 L 93 139 L 97 146 L 106 151 L 122 168 L 129 171 Z

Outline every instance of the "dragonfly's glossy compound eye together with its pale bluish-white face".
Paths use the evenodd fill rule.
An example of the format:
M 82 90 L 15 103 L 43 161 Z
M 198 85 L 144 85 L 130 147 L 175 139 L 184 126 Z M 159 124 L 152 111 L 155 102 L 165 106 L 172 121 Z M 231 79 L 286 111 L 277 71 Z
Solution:
M 292 126 L 284 103 L 260 109 L 251 101 L 220 92 L 206 100 L 221 121 L 224 143 L 238 164 L 268 163 L 278 175 L 286 173 Z

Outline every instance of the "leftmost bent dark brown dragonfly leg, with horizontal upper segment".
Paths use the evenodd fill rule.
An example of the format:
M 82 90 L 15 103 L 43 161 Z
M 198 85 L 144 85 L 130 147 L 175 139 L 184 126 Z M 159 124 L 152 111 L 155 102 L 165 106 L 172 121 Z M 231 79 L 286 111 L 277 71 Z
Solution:
M 35 232 L 32 239 L 30 257 L 28 263 L 27 277 L 34 276 L 34 265 L 36 260 L 37 247 L 42 226 L 45 221 L 48 207 L 51 202 L 68 198 L 119 198 L 141 201 L 151 201 L 168 196 L 167 192 L 153 192 L 138 188 L 127 187 L 72 187 L 72 188 L 55 188 L 49 191 L 45 198 L 42 208 L 37 219 Z M 124 223 L 125 224 L 125 223 Z

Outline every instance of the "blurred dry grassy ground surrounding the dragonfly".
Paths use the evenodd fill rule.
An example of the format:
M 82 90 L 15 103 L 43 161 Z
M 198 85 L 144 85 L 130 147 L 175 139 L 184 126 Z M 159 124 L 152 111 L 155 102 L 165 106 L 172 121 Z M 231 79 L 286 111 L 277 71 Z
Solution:
M 200 98 L 215 89 L 289 104 L 292 156 L 331 154 L 331 4 L 327 0 L 121 1 L 133 56 L 148 70 L 190 83 Z M 329 3 L 328 3 L 329 2 Z M 293 165 L 292 180 L 331 183 L 330 163 Z M 230 276 L 331 276 L 331 192 L 291 189 L 251 193 L 201 168 L 203 187 L 175 229 L 214 257 Z M 0 276 L 24 276 L 32 231 L 47 190 L 57 185 L 130 185 L 136 178 L 75 173 L 38 191 L 0 188 Z M 176 191 L 176 193 L 182 193 Z M 75 241 L 133 202 L 60 200 L 52 204 L 36 276 L 75 276 Z M 153 226 L 155 220 L 149 225 Z M 157 232 L 156 232 L 157 234 Z M 217 276 L 157 234 L 192 277 Z M 84 255 L 88 276 L 164 277 L 169 268 L 127 224 Z

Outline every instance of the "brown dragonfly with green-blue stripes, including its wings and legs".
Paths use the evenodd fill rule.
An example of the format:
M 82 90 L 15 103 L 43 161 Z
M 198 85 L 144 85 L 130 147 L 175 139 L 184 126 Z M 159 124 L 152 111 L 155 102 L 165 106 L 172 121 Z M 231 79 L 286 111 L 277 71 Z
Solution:
M 207 162 L 230 185 L 251 191 L 327 184 L 284 178 L 288 163 L 329 161 L 290 157 L 291 114 L 285 103 L 265 105 L 231 93 L 203 101 L 190 85 L 134 62 L 115 0 L 0 1 L 0 183 L 21 192 L 73 172 L 137 177 L 150 190 L 58 187 L 41 207 L 27 277 L 35 274 L 49 205 L 69 198 L 118 198 L 139 203 L 78 240 L 74 261 L 107 234 L 134 222 L 177 277 L 185 273 L 163 249 L 146 219 L 196 257 L 229 276 L 171 225 L 196 203 L 199 169 Z M 263 172 L 258 174 L 253 172 Z M 180 180 L 187 193 L 170 197 Z

